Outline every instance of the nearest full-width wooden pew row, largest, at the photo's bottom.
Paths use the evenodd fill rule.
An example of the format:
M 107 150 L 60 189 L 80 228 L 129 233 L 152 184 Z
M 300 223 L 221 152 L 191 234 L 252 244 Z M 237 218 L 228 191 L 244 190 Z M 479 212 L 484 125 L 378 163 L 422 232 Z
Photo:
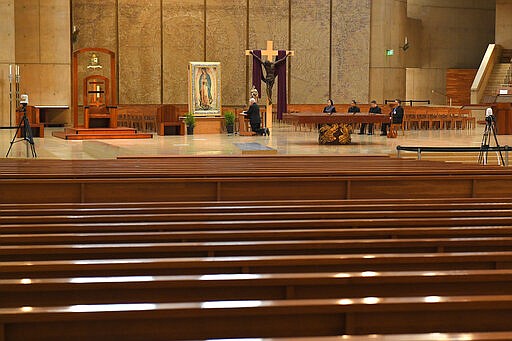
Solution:
M 0 309 L 5 341 L 508 331 L 512 296 L 365 297 Z

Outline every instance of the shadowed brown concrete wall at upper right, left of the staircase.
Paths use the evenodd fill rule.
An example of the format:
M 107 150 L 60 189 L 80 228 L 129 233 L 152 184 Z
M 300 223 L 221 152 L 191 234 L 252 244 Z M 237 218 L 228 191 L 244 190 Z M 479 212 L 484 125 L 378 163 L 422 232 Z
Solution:
M 408 16 L 421 21 L 421 42 L 407 52 L 422 51 L 407 71 L 407 99 L 445 104 L 446 70 L 478 68 L 494 42 L 495 3 L 488 0 L 408 0 Z M 499 15 L 499 13 L 498 13 Z M 418 63 L 419 61 L 419 63 Z

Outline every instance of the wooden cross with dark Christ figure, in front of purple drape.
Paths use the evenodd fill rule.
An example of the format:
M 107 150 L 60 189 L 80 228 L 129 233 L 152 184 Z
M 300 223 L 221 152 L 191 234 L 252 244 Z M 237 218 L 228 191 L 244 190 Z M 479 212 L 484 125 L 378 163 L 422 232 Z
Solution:
M 265 76 L 262 77 L 261 80 L 262 82 L 265 83 L 267 90 L 267 111 L 265 115 L 265 126 L 267 128 L 272 127 L 272 88 L 274 87 L 274 82 L 278 76 L 279 67 L 285 63 L 288 56 L 294 56 L 295 52 L 286 50 L 285 56 L 281 57 L 281 59 L 277 59 L 276 61 L 274 61 L 274 57 L 277 57 L 278 54 L 279 51 L 274 50 L 274 42 L 272 40 L 267 40 L 267 49 L 261 50 L 261 57 L 255 53 L 255 50 L 245 51 L 246 56 L 253 56 L 255 61 L 258 61 L 260 65 L 262 65 L 263 68 L 265 68 Z M 263 57 L 266 57 L 266 60 L 263 60 Z M 255 80 L 253 79 L 253 85 L 257 85 L 254 84 L 254 81 Z M 286 82 L 286 77 L 285 79 L 280 80 L 280 82 Z

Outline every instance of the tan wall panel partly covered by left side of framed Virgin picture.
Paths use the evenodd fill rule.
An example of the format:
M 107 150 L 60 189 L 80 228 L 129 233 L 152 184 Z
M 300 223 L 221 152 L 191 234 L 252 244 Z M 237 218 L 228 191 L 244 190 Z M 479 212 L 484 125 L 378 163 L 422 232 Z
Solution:
M 163 102 L 187 103 L 191 61 L 204 60 L 204 0 L 163 0 Z

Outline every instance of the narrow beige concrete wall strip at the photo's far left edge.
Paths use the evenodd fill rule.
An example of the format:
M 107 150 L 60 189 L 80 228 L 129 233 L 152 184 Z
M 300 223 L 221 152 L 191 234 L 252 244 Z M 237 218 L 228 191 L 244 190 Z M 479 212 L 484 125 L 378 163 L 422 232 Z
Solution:
M 0 18 L 0 126 L 7 126 L 10 123 L 9 64 L 15 61 L 14 0 L 0 1 Z

